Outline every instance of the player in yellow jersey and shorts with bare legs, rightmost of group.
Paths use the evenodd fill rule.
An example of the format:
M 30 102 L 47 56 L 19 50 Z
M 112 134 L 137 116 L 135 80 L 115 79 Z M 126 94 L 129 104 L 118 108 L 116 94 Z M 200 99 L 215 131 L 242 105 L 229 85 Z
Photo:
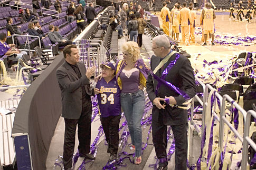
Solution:
M 210 33 L 212 37 L 212 45 L 214 44 L 214 22 L 213 19 L 216 18 L 214 9 L 211 8 L 210 3 L 206 3 L 206 9 L 202 12 L 202 21 L 204 28 L 204 45 L 206 44 L 207 34 Z

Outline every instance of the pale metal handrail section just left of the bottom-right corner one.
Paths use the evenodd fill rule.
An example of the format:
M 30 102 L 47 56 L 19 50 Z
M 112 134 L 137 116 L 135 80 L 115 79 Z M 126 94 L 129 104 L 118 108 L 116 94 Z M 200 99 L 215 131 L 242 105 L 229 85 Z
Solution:
M 246 118 L 246 112 L 244 111 L 244 109 L 236 102 L 234 102 L 233 98 L 231 98 L 229 95 L 225 94 L 223 95 L 223 99 L 222 99 L 222 106 L 221 106 L 221 112 L 220 112 L 220 127 L 219 127 L 219 148 L 220 148 L 220 155 L 222 153 L 222 147 L 223 147 L 223 129 L 224 129 L 224 123 L 227 124 L 227 126 L 229 126 L 229 128 L 231 129 L 231 131 L 235 134 L 235 136 L 238 137 L 238 139 L 243 143 L 243 137 L 238 133 L 238 131 L 236 131 L 236 129 L 234 128 L 234 126 L 232 126 L 232 124 L 226 119 L 225 117 L 225 105 L 226 105 L 226 100 L 229 101 L 230 103 L 232 103 L 232 105 L 238 109 L 238 111 L 240 111 L 243 114 L 244 117 L 244 121 Z M 244 151 L 243 151 L 244 152 Z M 220 157 L 221 159 L 221 157 Z

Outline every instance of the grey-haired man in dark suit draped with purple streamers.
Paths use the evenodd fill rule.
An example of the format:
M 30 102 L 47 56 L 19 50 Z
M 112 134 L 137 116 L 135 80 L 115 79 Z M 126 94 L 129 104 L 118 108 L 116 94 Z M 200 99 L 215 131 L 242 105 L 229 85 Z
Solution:
M 152 73 L 148 75 L 146 87 L 148 97 L 153 103 L 152 135 L 159 159 L 158 169 L 167 169 L 168 166 L 167 125 L 172 127 L 175 139 L 175 170 L 187 169 L 187 110 L 180 107 L 196 94 L 193 68 L 187 57 L 170 48 L 169 39 L 165 35 L 158 35 L 153 39 L 152 51 L 155 55 L 151 57 L 151 70 L 157 77 L 184 92 L 179 95 L 164 83 L 158 85 L 157 77 L 153 78 Z M 163 66 L 160 63 L 162 60 Z

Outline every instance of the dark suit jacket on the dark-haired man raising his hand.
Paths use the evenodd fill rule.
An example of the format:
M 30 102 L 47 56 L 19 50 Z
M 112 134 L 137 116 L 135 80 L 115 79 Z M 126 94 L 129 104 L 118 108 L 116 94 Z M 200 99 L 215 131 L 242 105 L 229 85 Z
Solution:
M 56 77 L 61 89 L 62 117 L 78 119 L 82 112 L 82 86 L 88 95 L 92 95 L 90 82 L 86 76 L 86 67 L 83 63 L 77 63 L 81 78 L 78 78 L 73 68 L 64 62 L 56 71 Z

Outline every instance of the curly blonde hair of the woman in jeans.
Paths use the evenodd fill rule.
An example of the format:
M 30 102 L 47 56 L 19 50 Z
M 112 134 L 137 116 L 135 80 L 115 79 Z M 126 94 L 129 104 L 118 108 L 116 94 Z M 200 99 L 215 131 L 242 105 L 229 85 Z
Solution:
M 136 42 L 126 42 L 122 44 L 122 51 L 128 52 L 132 55 L 132 62 L 136 62 L 139 59 L 139 46 Z

